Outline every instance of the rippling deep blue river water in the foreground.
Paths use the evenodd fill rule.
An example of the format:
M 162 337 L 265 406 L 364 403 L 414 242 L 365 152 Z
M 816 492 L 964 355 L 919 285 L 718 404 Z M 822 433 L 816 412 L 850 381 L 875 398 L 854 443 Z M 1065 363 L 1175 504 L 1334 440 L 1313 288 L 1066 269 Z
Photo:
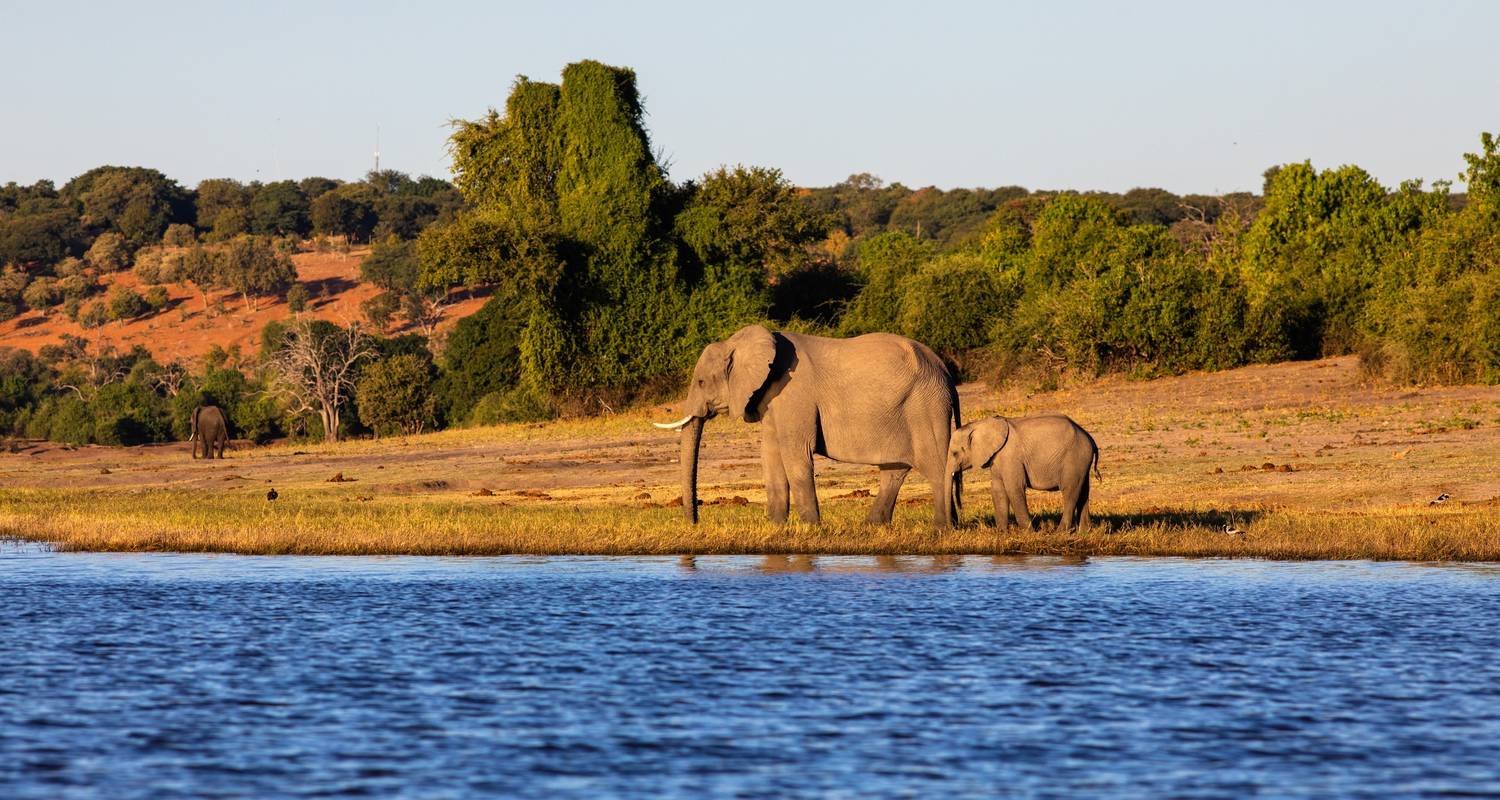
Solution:
M 0 794 L 1500 792 L 1500 567 L 0 549 Z

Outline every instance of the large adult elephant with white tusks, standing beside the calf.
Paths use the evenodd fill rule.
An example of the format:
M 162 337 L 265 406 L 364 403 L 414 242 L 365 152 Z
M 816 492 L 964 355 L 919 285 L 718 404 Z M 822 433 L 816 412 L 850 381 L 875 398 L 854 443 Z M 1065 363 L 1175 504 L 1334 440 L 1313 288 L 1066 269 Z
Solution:
M 944 467 L 948 435 L 958 425 L 958 392 L 927 345 L 891 333 L 828 339 L 747 326 L 704 348 L 686 411 L 674 423 L 654 425 L 682 434 L 682 513 L 690 522 L 698 522 L 704 422 L 722 413 L 764 426 L 772 522 L 786 521 L 789 500 L 804 522 L 819 521 L 813 455 L 880 468 L 868 522 L 891 521 L 912 468 L 933 488 L 938 525 L 957 521 L 957 492 L 945 491 Z

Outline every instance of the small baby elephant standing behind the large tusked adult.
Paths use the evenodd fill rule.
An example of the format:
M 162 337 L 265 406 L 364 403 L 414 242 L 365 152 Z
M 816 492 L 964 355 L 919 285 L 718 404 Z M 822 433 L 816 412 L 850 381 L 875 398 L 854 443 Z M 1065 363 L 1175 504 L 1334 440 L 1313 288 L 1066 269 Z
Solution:
M 1032 528 L 1026 489 L 1062 491 L 1062 530 L 1089 524 L 1089 470 L 1100 474 L 1100 447 L 1077 422 L 1062 416 L 988 417 L 952 432 L 948 444 L 948 482 L 960 486 L 963 470 L 990 468 L 994 524 L 1016 521 Z

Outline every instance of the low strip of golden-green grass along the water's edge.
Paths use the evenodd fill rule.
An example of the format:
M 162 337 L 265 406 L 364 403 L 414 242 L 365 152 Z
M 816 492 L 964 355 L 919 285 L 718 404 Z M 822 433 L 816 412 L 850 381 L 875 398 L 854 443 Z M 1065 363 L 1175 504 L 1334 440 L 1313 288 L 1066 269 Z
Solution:
M 267 503 L 182 491 L 0 491 L 0 537 L 62 551 L 255 555 L 1162 555 L 1272 560 L 1500 561 L 1490 504 L 1306 513 L 1152 510 L 1108 506 L 1089 531 L 939 533 L 926 519 L 860 521 L 831 504 L 824 525 L 771 525 L 759 506 L 718 506 L 690 527 L 675 509 L 609 504 L 512 506 L 494 498 L 308 497 Z M 926 510 L 926 509 L 922 509 Z M 926 518 L 926 513 L 921 515 Z M 1234 519 L 1244 537 L 1221 525 Z M 1050 527 L 1050 525 L 1048 525 Z

